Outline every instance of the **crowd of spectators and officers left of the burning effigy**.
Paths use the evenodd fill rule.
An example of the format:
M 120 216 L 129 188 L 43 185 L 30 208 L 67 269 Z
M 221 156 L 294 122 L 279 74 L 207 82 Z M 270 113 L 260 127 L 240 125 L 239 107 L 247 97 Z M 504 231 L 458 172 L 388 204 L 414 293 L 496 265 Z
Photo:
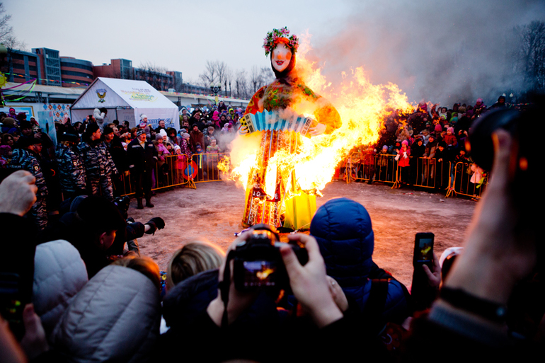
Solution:
M 131 192 L 129 177 L 137 207 L 144 208 L 143 199 L 146 207 L 154 207 L 151 189 L 170 190 L 183 183 L 183 170 L 191 161 L 200 176 L 210 173 L 219 179 L 218 154 L 229 151 L 242 114 L 242 108 L 228 108 L 223 101 L 210 110 L 183 108 L 176 131 L 166 128 L 164 120 L 152 127 L 146 115 L 132 128 L 128 122 L 105 122 L 108 110 L 96 109 L 81 122 L 68 117 L 55 122 L 55 147 L 34 117 L 27 120 L 12 108 L 8 115 L 0 113 L 0 180 L 18 169 L 35 176 L 40 190 L 30 217 L 42 230 L 48 219 L 58 219 L 63 200 L 78 195 L 113 200 Z

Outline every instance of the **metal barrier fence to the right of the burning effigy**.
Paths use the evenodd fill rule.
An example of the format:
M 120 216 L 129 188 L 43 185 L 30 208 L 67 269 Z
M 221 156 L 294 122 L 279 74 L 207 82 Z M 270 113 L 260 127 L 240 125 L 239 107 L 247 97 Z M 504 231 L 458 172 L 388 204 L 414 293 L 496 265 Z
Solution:
M 413 158 L 409 156 L 409 165 L 400 167 L 396 155 L 378 154 L 360 157 L 352 153 L 339 168 L 339 178 L 347 183 L 352 180 L 359 182 L 391 183 L 391 188 L 411 187 L 447 190 L 447 197 L 466 195 L 480 198 L 486 189 L 486 178 L 482 185 L 472 183 L 471 176 L 476 173 L 469 163 L 446 163 L 436 159 Z M 474 180 L 476 181 L 476 180 Z

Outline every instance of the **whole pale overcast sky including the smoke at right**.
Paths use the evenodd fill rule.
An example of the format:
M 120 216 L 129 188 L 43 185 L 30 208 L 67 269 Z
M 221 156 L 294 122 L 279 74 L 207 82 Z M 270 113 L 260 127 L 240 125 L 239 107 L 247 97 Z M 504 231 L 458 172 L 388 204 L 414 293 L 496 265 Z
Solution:
M 498 71 L 505 34 L 545 19 L 544 0 L 3 2 L 29 50 L 49 47 L 95 65 L 151 62 L 193 82 L 207 60 L 234 71 L 270 67 L 261 47 L 268 31 L 308 30 L 311 55 L 331 80 L 363 66 L 372 82 L 397 83 L 410 101 L 450 105 L 453 95 L 471 99 L 508 87 Z

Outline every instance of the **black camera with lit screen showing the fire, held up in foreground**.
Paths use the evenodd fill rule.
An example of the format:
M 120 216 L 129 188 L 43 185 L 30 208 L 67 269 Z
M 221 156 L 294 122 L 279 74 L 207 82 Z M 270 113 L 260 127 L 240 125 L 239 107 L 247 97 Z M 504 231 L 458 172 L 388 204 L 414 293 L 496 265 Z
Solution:
M 236 289 L 251 291 L 265 287 L 289 291 L 289 277 L 280 247 L 291 246 L 302 265 L 309 261 L 309 254 L 304 246 L 295 242 L 283 243 L 279 239 L 274 227 L 268 224 L 253 226 L 251 237 L 234 250 L 233 280 Z

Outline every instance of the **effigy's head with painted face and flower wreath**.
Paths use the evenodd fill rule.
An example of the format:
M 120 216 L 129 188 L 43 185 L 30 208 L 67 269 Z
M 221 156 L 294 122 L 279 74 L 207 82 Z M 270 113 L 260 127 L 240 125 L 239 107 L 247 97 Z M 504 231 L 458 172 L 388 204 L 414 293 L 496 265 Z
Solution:
M 287 75 L 295 67 L 295 53 L 298 47 L 299 38 L 297 35 L 289 35 L 286 27 L 272 29 L 267 33 L 263 48 L 265 48 L 265 56 L 270 54 L 272 71 L 277 78 Z

